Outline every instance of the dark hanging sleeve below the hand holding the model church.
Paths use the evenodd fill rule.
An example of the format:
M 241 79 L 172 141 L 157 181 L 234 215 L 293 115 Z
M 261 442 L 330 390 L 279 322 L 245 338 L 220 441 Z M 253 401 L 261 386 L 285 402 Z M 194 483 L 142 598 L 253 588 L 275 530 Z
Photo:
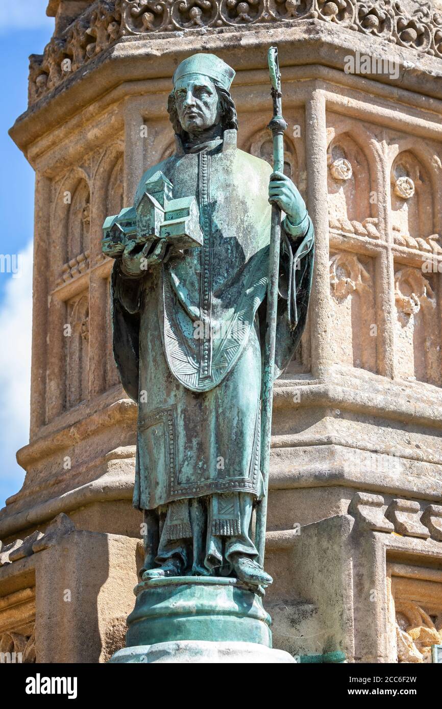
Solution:
M 112 343 L 123 389 L 137 401 L 140 296 L 144 278 L 124 276 L 120 260 L 116 259 L 111 277 Z

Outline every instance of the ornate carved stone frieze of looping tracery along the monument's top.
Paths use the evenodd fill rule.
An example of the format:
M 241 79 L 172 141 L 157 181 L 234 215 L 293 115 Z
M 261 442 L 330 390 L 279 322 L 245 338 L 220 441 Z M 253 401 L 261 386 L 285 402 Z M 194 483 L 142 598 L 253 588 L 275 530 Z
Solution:
M 124 37 L 244 32 L 309 20 L 442 58 L 442 13 L 422 0 L 96 0 L 53 36 L 43 55 L 31 55 L 29 104 Z

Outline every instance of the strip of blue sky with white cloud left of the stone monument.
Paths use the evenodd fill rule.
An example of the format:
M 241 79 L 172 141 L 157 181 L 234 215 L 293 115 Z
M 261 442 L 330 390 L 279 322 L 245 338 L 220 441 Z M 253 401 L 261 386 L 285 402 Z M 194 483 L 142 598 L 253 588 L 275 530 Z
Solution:
M 31 374 L 34 174 L 8 130 L 26 111 L 28 56 L 43 52 L 53 33 L 47 4 L 14 0 L 0 13 L 0 255 L 10 255 L 16 271 L 0 269 L 0 507 L 23 483 L 15 454 L 29 440 Z

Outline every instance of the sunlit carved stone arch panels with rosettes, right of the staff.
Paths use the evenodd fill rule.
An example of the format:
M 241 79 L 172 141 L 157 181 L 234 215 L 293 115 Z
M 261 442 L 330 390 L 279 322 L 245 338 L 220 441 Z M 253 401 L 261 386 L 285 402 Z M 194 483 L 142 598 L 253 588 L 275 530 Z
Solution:
M 328 210 L 331 244 L 351 252 L 331 255 L 333 309 L 347 303 L 347 325 L 336 314 L 336 362 L 378 372 L 377 343 L 394 340 L 394 370 L 398 379 L 441 384 L 440 306 L 437 276 L 426 273 L 441 254 L 439 188 L 441 148 L 411 135 L 380 130 L 375 125 L 342 121 L 331 114 L 328 125 Z M 385 182 L 383 171 L 389 171 Z M 389 194 L 387 194 L 387 191 Z M 380 213 L 379 205 L 387 211 Z M 430 233 L 431 232 L 431 233 Z M 370 244 L 370 246 L 368 246 Z M 396 247 L 401 247 L 397 249 Z M 360 257 L 370 249 L 372 269 Z M 420 252 L 418 264 L 413 252 Z M 395 316 L 392 323 L 377 322 L 375 294 L 388 298 L 391 281 L 383 279 L 375 261 L 382 256 L 394 264 Z M 436 266 L 437 272 L 437 266 Z M 358 310 L 359 294 L 365 312 Z M 382 291 L 384 291 L 382 293 Z M 353 294 L 353 296 L 350 296 Z M 349 299 L 350 298 L 350 299 Z M 351 303 L 351 306 L 349 305 Z M 342 311 L 342 308 L 341 308 Z M 353 323 L 350 321 L 353 317 Z M 339 322 L 338 322 L 339 321 Z M 391 331 L 389 332 L 389 328 Z M 356 340 L 369 364 L 350 356 L 346 339 Z M 382 350 L 385 345 L 380 347 Z

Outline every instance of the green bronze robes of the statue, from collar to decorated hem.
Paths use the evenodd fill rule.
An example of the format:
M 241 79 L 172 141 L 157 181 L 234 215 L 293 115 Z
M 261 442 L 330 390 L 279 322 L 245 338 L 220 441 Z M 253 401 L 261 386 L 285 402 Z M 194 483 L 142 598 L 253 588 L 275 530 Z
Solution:
M 133 505 L 247 492 L 263 494 L 260 390 L 271 208 L 270 166 L 226 130 L 213 150 L 177 152 L 160 170 L 173 197 L 196 196 L 204 240 L 142 277 L 116 259 L 111 279 L 114 356 L 138 402 Z M 304 330 L 314 232 L 282 231 L 276 376 Z

